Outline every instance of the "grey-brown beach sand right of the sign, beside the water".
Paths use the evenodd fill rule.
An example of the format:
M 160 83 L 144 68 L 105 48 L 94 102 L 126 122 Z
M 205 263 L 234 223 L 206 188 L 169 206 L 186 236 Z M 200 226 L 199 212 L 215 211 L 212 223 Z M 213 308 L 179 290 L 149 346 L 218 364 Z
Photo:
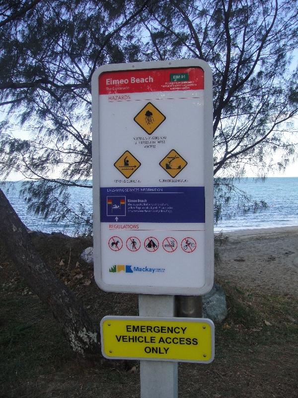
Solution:
M 218 235 L 218 234 L 216 234 Z M 215 278 L 242 288 L 298 294 L 298 226 L 224 232 Z

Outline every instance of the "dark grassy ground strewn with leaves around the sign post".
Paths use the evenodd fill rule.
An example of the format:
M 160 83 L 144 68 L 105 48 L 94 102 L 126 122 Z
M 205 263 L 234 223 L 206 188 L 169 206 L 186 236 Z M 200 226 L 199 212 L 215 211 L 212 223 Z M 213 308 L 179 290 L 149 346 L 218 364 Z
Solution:
M 215 361 L 180 364 L 179 397 L 259 398 L 273 396 L 275 389 L 276 397 L 296 397 L 297 298 L 219 283 L 228 316 L 215 328 Z M 103 314 L 137 314 L 137 295 L 124 300 L 93 284 L 76 293 L 97 322 Z M 3 398 L 139 398 L 138 371 L 77 362 L 49 309 L 18 276 L 7 275 L 0 289 L 0 363 Z

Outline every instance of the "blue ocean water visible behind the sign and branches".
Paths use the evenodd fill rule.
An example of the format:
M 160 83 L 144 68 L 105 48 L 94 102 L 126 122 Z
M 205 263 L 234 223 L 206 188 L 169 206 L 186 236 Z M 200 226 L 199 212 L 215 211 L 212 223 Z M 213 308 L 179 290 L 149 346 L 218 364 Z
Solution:
M 237 208 L 237 199 L 230 201 L 222 211 L 222 219 L 215 225 L 215 231 L 234 231 L 239 229 L 271 228 L 298 225 L 298 177 L 267 178 L 265 181 L 255 181 L 252 178 L 241 179 L 235 184 L 245 191 L 253 200 L 264 200 L 268 208 L 258 212 L 243 213 Z M 43 232 L 63 232 L 74 234 L 74 228 L 65 223 L 52 223 L 40 216 L 28 212 L 25 201 L 20 198 L 21 183 L 13 185 L 6 183 L 1 186 L 7 199 L 27 226 L 31 230 Z M 79 210 L 79 203 L 92 211 L 92 190 L 85 188 L 71 188 L 71 206 Z

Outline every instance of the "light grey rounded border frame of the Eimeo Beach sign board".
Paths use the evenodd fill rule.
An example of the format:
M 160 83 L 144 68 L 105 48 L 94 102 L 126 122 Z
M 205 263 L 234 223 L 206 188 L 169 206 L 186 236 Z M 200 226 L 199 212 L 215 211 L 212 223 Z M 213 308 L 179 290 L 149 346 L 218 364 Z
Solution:
M 146 286 L 140 286 L 134 282 L 131 285 L 121 283 L 106 283 L 103 279 L 105 273 L 108 273 L 110 265 L 104 264 L 102 254 L 105 250 L 101 233 L 100 222 L 100 151 L 106 151 L 107 148 L 100 148 L 99 131 L 100 124 L 100 107 L 99 107 L 99 76 L 105 72 L 116 71 L 139 71 L 150 69 L 170 69 L 170 68 L 191 68 L 199 67 L 204 71 L 204 187 L 205 187 L 205 232 L 204 232 L 204 264 L 203 267 L 204 284 L 200 287 L 179 286 L 172 283 L 171 286 L 152 286 L 149 283 Z M 174 110 L 175 111 L 175 110 Z M 168 115 L 166 115 L 168 117 Z M 113 115 L 115 117 L 115 115 Z M 208 293 L 214 283 L 214 208 L 213 208 L 213 103 L 212 103 L 212 71 L 209 65 L 202 60 L 174 60 L 174 61 L 157 61 L 157 62 L 140 62 L 127 64 L 104 65 L 98 68 L 92 76 L 92 169 L 93 169 L 93 255 L 94 255 L 94 277 L 97 285 L 104 291 L 108 292 L 125 292 L 152 295 L 204 295 Z M 134 121 L 132 121 L 134 123 Z M 165 123 L 164 123 L 165 124 Z M 146 133 L 145 133 L 146 135 Z M 123 148 L 123 152 L 128 148 Z M 117 158 L 112 160 L 116 161 Z M 140 159 L 139 159 L 140 160 Z M 136 173 L 137 174 L 137 173 Z M 181 173 L 182 174 L 182 173 Z M 137 185 L 138 186 L 138 185 Z M 140 186 L 140 184 L 139 184 Z M 142 184 L 141 184 L 142 186 Z M 119 220 L 121 223 L 121 220 Z M 114 231 L 117 236 L 117 230 Z M 134 235 L 134 231 L 132 231 Z M 152 236 L 152 235 L 151 235 Z M 167 234 L 167 236 L 169 236 Z M 189 236 L 189 235 L 186 235 Z M 161 244 L 161 242 L 159 242 Z M 125 245 L 125 242 L 123 242 Z M 197 250 L 198 251 L 198 250 Z M 186 253 L 185 263 L 187 265 L 190 254 Z M 122 263 L 120 263 L 122 264 Z M 194 275 L 194 278 L 196 275 Z

